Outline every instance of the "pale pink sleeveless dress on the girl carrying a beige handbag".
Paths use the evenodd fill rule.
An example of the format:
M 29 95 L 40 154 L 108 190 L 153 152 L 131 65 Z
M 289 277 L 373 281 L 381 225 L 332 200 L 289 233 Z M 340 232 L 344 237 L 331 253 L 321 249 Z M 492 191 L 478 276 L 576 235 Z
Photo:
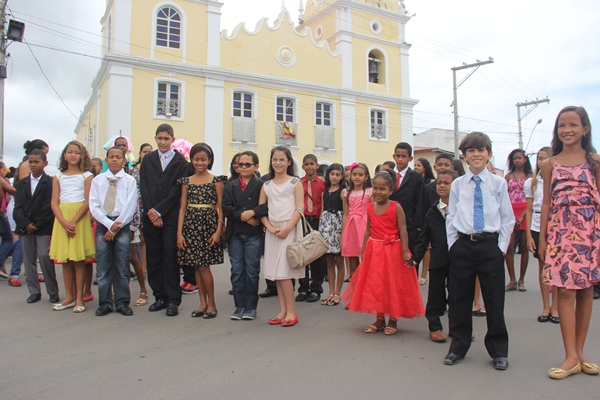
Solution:
M 290 178 L 287 182 L 276 184 L 268 181 L 264 184 L 269 204 L 269 222 L 276 228 L 283 228 L 292 219 L 296 209 L 294 186 L 300 182 L 298 178 Z M 288 244 L 296 239 L 296 230 L 302 236 L 302 220 L 285 239 L 280 239 L 267 231 L 265 235 L 265 278 L 276 281 L 290 278 L 304 278 L 305 268 L 292 269 L 285 254 Z

